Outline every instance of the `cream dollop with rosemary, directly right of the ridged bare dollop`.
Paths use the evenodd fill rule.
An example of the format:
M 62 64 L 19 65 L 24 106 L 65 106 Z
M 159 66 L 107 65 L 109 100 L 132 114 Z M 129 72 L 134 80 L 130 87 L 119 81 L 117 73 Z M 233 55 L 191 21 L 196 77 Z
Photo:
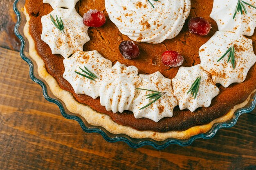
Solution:
M 147 99 L 146 95 L 152 94 L 153 92 L 137 89 L 135 98 L 132 100 L 129 108 L 135 118 L 148 118 L 158 122 L 162 118 L 173 117 L 173 109 L 177 106 L 177 100 L 173 96 L 171 79 L 165 78 L 160 72 L 150 75 L 139 74 L 139 76 L 142 78 L 142 81 L 138 88 L 162 93 L 166 92 L 166 94 L 152 105 L 141 109 L 152 101 Z

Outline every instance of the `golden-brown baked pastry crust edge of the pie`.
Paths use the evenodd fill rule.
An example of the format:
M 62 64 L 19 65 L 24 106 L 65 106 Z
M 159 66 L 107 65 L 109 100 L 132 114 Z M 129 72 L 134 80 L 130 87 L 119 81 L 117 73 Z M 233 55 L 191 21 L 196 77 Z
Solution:
M 56 79 L 47 72 L 44 61 L 40 58 L 40 56 L 38 55 L 38 52 L 36 51 L 34 39 L 31 37 L 29 33 L 30 17 L 26 10 L 24 10 L 24 13 L 27 19 L 27 23 L 25 24 L 25 27 L 24 27 L 24 35 L 25 37 L 27 37 L 29 41 L 29 55 L 34 61 L 36 61 L 36 64 L 38 66 L 37 71 L 39 76 L 43 78 L 43 80 L 49 85 L 54 96 L 56 96 L 57 98 L 59 98 L 65 103 L 65 106 L 67 107 L 68 111 L 82 116 L 91 125 L 102 126 L 110 133 L 126 134 L 132 138 L 138 138 L 138 139 L 151 138 L 156 141 L 164 141 L 165 139 L 168 139 L 168 138 L 188 139 L 191 136 L 194 136 L 200 133 L 206 133 L 212 128 L 213 124 L 215 123 L 226 122 L 230 120 L 234 116 L 234 112 L 237 109 L 245 107 L 245 105 L 247 105 L 247 103 L 249 102 L 251 95 L 254 92 L 256 92 L 256 89 L 255 89 L 254 92 L 252 92 L 252 94 L 247 98 L 247 100 L 245 100 L 245 102 L 234 106 L 224 116 L 213 120 L 209 124 L 193 126 L 185 131 L 168 131 L 164 133 L 154 132 L 154 131 L 138 131 L 138 130 L 132 129 L 131 127 L 117 124 L 110 118 L 110 116 L 94 111 L 89 106 L 77 102 L 70 92 L 67 92 L 61 89 Z

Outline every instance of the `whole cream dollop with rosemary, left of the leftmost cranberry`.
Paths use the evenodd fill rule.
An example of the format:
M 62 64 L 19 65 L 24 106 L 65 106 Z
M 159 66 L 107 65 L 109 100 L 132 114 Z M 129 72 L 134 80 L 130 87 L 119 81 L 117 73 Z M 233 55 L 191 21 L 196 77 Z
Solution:
M 57 18 L 63 21 L 63 31 L 54 25 L 54 22 L 58 23 Z M 90 40 L 87 32 L 89 27 L 83 24 L 83 18 L 74 8 L 56 8 L 48 15 L 44 15 L 41 21 L 41 39 L 49 45 L 52 54 L 61 54 L 67 58 L 76 50 L 83 50 L 83 45 Z

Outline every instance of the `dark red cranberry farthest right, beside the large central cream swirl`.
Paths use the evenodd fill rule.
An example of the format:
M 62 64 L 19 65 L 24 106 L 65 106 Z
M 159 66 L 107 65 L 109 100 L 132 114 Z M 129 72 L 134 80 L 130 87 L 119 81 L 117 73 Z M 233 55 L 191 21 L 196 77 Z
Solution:
M 208 35 L 211 30 L 211 25 L 202 17 L 195 17 L 189 20 L 189 31 L 195 35 Z

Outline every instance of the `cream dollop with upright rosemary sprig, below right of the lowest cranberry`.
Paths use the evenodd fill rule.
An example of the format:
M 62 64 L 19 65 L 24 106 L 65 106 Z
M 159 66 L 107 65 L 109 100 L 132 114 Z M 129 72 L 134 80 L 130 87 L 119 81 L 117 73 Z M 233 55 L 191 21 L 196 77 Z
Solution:
M 198 77 L 200 77 L 200 83 L 195 97 L 189 90 Z M 211 100 L 220 92 L 209 73 L 204 71 L 200 65 L 181 67 L 175 78 L 172 79 L 172 83 L 174 96 L 178 100 L 181 110 L 189 109 L 193 112 L 199 107 L 209 107 Z

